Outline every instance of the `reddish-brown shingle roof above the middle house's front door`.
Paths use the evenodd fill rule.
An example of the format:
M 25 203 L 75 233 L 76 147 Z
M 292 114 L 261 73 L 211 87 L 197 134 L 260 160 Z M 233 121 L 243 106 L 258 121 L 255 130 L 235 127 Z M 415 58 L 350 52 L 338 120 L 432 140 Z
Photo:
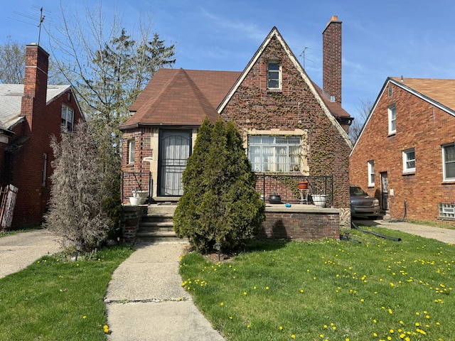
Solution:
M 216 107 L 240 72 L 159 69 L 130 108 L 121 127 L 139 125 L 199 126 L 218 119 Z

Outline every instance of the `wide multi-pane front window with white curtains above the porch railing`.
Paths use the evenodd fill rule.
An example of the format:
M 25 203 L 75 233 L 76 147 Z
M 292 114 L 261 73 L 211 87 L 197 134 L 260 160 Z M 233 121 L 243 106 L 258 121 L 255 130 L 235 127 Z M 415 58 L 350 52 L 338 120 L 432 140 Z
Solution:
M 248 136 L 248 159 L 253 172 L 301 172 L 301 136 Z

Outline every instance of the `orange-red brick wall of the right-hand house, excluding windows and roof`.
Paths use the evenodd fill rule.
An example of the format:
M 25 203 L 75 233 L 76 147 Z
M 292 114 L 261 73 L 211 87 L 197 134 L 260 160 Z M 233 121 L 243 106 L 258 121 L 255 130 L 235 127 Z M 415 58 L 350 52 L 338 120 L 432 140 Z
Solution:
M 395 134 L 388 129 L 387 109 L 392 105 Z M 351 153 L 350 183 L 382 201 L 381 178 L 387 175 L 390 217 L 403 218 L 406 211 L 409 220 L 437 221 L 439 203 L 455 204 L 455 182 L 443 181 L 441 151 L 454 141 L 454 114 L 388 79 Z M 415 171 L 405 173 L 402 153 L 410 148 L 415 151 Z M 370 187 L 368 161 L 374 161 L 375 173 Z

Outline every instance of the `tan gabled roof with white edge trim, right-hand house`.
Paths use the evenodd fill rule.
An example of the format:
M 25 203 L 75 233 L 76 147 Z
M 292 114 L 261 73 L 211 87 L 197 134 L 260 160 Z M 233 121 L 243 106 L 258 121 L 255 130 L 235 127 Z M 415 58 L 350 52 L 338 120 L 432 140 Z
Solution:
M 455 80 L 439 80 L 435 78 L 387 77 L 387 80 L 385 80 L 384 85 L 382 85 L 382 89 L 376 98 L 373 108 L 370 111 L 370 114 L 368 114 L 368 117 L 365 120 L 365 124 L 363 124 L 358 139 L 355 141 L 353 149 L 350 152 L 351 155 L 355 149 L 355 146 L 357 146 L 358 141 L 363 135 L 363 131 L 365 131 L 370 118 L 375 112 L 375 109 L 378 106 L 380 99 L 382 98 L 382 94 L 384 94 L 385 90 L 387 90 L 387 87 L 390 83 L 402 88 L 407 92 L 410 92 L 411 94 L 414 94 L 423 101 L 428 102 L 429 104 L 432 104 L 444 112 L 447 112 L 447 114 L 455 117 Z

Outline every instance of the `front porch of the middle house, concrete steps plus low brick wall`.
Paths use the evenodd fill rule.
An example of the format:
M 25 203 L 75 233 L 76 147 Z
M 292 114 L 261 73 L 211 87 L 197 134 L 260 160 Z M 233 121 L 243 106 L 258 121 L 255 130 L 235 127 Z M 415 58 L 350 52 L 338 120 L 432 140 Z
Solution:
M 173 212 L 177 198 L 156 197 L 154 203 L 124 205 L 122 242 L 175 242 L 181 239 L 173 232 Z M 315 205 L 266 204 L 266 220 L 262 223 L 258 239 L 314 240 L 339 239 L 340 210 Z

